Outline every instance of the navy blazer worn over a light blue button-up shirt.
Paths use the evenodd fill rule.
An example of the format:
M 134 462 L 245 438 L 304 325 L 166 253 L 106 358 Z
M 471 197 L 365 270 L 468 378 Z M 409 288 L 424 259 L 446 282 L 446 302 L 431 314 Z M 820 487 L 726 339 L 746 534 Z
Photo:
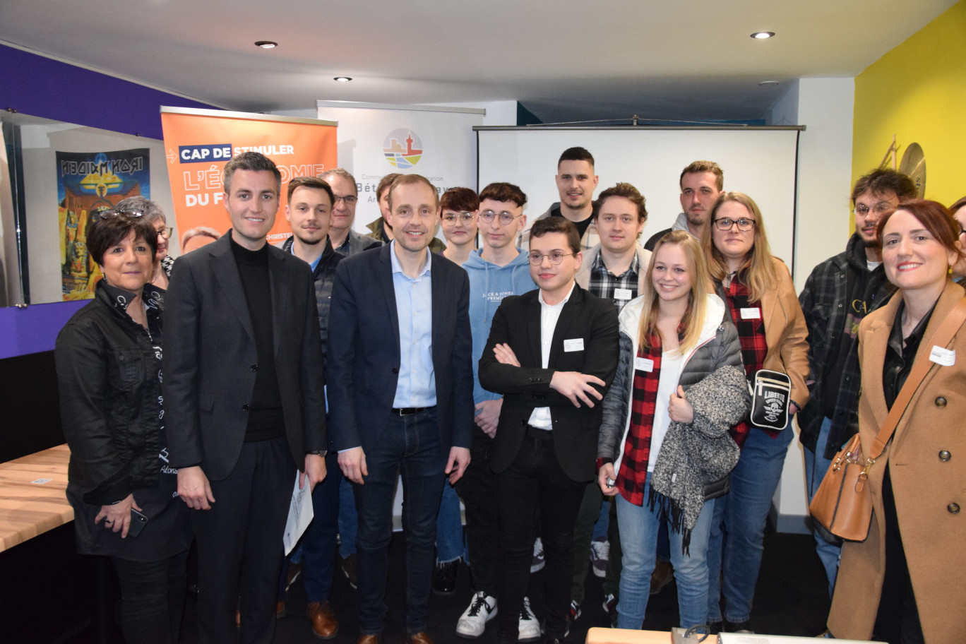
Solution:
M 328 400 L 337 450 L 370 451 L 383 435 L 399 381 L 399 315 L 391 244 L 347 257 L 335 270 L 328 314 Z M 468 447 L 473 376 L 467 271 L 433 255 L 433 369 L 440 439 Z

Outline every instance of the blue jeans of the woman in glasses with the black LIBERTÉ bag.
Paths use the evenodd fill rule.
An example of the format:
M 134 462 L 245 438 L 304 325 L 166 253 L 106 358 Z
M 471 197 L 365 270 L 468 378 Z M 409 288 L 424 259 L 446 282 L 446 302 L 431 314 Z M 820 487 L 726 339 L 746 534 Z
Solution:
M 731 470 L 731 489 L 715 499 L 719 517 L 714 519 L 708 543 L 709 622 L 722 621 L 723 592 L 728 622 L 751 619 L 754 585 L 765 549 L 765 522 L 794 436 L 790 421 L 776 438 L 753 427 Z

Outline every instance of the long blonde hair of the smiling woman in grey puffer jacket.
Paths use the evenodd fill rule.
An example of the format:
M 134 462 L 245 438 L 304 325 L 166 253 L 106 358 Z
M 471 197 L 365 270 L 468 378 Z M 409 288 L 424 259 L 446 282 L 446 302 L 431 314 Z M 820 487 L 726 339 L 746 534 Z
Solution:
M 643 300 L 638 325 L 638 344 L 641 349 L 651 349 L 651 336 L 658 334 L 658 308 L 661 305 L 661 298 L 658 297 L 657 291 L 654 289 L 654 263 L 661 248 L 670 244 L 680 246 L 681 250 L 684 251 L 688 271 L 692 274 L 691 293 L 688 294 L 688 310 L 681 318 L 684 335 L 681 338 L 678 351 L 683 354 L 696 347 L 697 341 L 700 339 L 701 327 L 704 325 L 704 314 L 707 309 L 709 286 L 704 255 L 701 253 L 701 248 L 697 245 L 696 239 L 691 237 L 687 231 L 671 231 L 654 246 L 650 264 L 647 265 L 647 279 L 644 280 Z

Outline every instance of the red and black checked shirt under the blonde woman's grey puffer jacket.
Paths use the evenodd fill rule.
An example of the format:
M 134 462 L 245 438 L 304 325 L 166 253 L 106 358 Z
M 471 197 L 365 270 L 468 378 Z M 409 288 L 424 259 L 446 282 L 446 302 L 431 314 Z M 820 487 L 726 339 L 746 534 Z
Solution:
M 661 381 L 661 337 L 651 337 L 651 348 L 638 350 L 638 357 L 654 361 L 651 372 L 634 370 L 631 389 L 631 427 L 624 441 L 624 456 L 617 472 L 617 490 L 624 500 L 634 505 L 644 504 L 644 483 L 647 462 L 651 454 L 651 431 L 654 429 L 654 410 Z

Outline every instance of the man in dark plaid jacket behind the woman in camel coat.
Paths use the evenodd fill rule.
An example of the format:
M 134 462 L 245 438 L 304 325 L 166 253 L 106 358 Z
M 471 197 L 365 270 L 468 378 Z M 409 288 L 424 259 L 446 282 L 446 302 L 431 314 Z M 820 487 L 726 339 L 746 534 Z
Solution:
M 838 449 L 858 430 L 859 322 L 895 291 L 882 267 L 876 225 L 899 201 L 915 196 L 915 183 L 895 170 L 874 170 L 859 178 L 852 189 L 855 233 L 845 252 L 812 269 L 799 294 L 809 327 L 810 401 L 798 414 L 809 501 Z M 839 544 L 817 531 L 814 536 L 831 597 Z

